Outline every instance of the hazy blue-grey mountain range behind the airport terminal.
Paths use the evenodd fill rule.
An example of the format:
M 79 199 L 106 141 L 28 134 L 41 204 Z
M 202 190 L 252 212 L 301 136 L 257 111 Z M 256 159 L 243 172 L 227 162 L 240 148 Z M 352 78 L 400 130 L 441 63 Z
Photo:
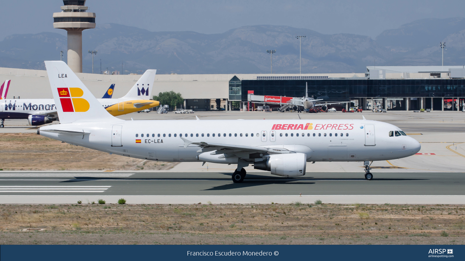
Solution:
M 446 42 L 445 65 L 465 63 L 465 18 L 423 19 L 385 30 L 375 39 L 356 34 L 323 34 L 289 26 L 243 26 L 225 33 L 150 32 L 132 26 L 100 24 L 83 32 L 83 72 L 146 69 L 157 73 L 365 72 L 367 65 L 441 65 L 439 42 Z M 0 67 L 44 70 L 44 60 L 60 59 L 66 36 L 13 34 L 0 41 Z M 121 69 L 123 68 L 123 69 Z

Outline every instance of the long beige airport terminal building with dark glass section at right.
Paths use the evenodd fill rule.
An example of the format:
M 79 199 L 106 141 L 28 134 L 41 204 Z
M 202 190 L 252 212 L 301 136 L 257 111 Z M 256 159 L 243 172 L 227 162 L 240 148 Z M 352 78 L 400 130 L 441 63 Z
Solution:
M 97 98 L 111 84 L 115 84 L 113 97 L 122 97 L 140 78 L 76 74 Z M 12 80 L 7 98 L 52 98 L 47 77 L 43 70 L 0 68 L 0 81 Z M 248 101 L 248 93 L 303 97 L 306 85 L 310 97 L 352 101 L 352 106 L 364 110 L 457 111 L 465 103 L 465 66 L 366 66 L 362 73 L 326 74 L 159 74 L 152 94 L 179 92 L 184 98 L 179 106 L 194 111 L 239 110 L 247 102 L 252 107 L 265 103 Z

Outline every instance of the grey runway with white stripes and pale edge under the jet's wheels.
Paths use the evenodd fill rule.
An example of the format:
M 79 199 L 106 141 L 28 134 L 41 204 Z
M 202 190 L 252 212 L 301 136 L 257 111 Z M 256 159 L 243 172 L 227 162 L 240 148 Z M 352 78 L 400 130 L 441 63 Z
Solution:
M 243 183 L 219 172 L 1 173 L 0 203 L 449 203 L 465 202 L 465 173 L 307 172 L 286 178 L 249 172 Z

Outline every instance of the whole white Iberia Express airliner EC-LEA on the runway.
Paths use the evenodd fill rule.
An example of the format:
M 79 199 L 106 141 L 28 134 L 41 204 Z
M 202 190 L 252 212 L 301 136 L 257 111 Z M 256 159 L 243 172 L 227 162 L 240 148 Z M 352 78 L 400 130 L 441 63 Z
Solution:
M 244 169 L 286 177 L 304 176 L 307 162 L 364 162 L 414 155 L 420 144 L 398 127 L 366 120 L 137 120 L 113 117 L 62 61 L 45 62 L 60 123 L 38 134 L 69 144 L 153 161 L 237 164 L 232 178 L 240 183 Z M 68 78 L 59 78 L 67 74 Z M 69 91 L 70 96 L 62 95 Z M 74 97 L 78 97 L 74 102 Z M 73 99 L 73 111 L 63 104 Z

